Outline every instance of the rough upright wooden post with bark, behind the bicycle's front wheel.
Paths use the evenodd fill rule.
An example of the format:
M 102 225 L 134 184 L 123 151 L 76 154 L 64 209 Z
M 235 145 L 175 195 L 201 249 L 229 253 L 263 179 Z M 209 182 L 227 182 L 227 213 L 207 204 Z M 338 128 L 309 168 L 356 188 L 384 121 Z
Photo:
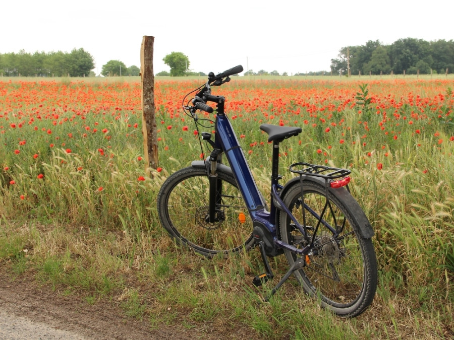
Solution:
M 142 77 L 142 134 L 145 156 L 145 172 L 158 166 L 157 129 L 154 106 L 153 75 L 153 42 L 154 37 L 144 36 L 140 48 L 140 75 Z

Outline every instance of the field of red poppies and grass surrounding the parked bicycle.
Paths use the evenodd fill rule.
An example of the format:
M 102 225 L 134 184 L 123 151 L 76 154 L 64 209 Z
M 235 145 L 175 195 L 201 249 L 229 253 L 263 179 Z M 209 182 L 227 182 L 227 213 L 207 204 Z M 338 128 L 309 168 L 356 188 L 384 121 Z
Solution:
M 119 277 L 132 276 L 134 268 L 135 281 L 160 288 L 151 294 L 130 287 L 125 310 L 152 323 L 183 318 L 188 329 L 208 322 L 226 331 L 240 323 L 257 338 L 308 331 L 453 336 L 454 80 L 245 78 L 232 77 L 212 92 L 226 98 L 225 112 L 265 197 L 271 147 L 262 123 L 303 128 L 281 143 L 284 180 L 297 161 L 352 170 L 352 194 L 375 230 L 380 270 L 376 298 L 354 325 L 314 312 L 292 286 L 266 308 L 255 310 L 253 301 L 245 307 L 253 294 L 242 287 L 246 281 L 250 286 L 255 274 L 249 264 L 258 252 L 207 263 L 175 249 L 161 230 L 155 207 L 160 184 L 209 155 L 198 137 L 212 131 L 214 117 L 198 113 L 206 127 L 197 129 L 182 110 L 183 98 L 202 78 L 156 79 L 159 166 L 150 175 L 140 80 L 0 78 L 0 261 L 13 263 L 18 273 L 40 268 L 44 282 L 93 298 L 124 289 Z M 81 259 L 72 260 L 75 253 Z M 52 263 L 54 270 L 48 269 Z M 194 273 L 182 279 L 187 271 Z M 85 282 L 80 273 L 91 279 L 78 283 Z M 282 317 L 290 310 L 295 315 Z M 317 319 L 308 323 L 312 313 L 325 327 Z

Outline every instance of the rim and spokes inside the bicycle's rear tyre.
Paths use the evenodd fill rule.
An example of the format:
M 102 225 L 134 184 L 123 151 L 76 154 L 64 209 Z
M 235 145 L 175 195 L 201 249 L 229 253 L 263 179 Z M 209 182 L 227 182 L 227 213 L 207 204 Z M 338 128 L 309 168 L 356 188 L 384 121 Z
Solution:
M 319 223 L 307 207 L 321 216 L 324 223 Z M 306 257 L 304 269 L 295 273 L 297 278 L 310 295 L 319 296 L 330 306 L 346 308 L 354 305 L 363 291 L 364 259 L 345 209 L 339 208 L 338 202 L 332 200 L 326 205 L 325 195 L 316 190 L 306 190 L 303 198 L 295 197 L 290 208 L 302 225 L 305 221 L 303 227 L 311 237 L 304 240 L 287 218 L 287 241 L 302 248 L 313 239 L 315 246 L 314 252 Z M 335 239 L 335 233 L 326 225 L 337 231 Z M 291 262 L 296 260 L 293 253 L 288 252 L 287 257 Z

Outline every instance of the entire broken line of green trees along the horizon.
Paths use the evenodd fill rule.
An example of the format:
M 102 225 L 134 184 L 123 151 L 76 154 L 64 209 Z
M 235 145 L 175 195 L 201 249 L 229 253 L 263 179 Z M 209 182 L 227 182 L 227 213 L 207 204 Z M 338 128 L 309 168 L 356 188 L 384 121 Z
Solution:
M 202 72 L 189 71 L 189 58 L 182 52 L 167 54 L 163 61 L 171 71 L 156 76 L 206 76 Z M 93 56 L 83 48 L 68 52 L 38 52 L 0 54 L 0 75 L 7 77 L 85 77 L 95 76 Z M 454 40 L 425 41 L 405 38 L 384 45 L 379 40 L 369 40 L 365 45 L 346 46 L 339 50 L 337 58 L 331 59 L 331 74 L 343 75 L 388 75 L 388 74 L 444 74 L 454 70 Z M 127 67 L 122 61 L 109 60 L 102 66 L 101 75 L 138 76 L 139 67 Z M 325 71 L 298 74 L 324 75 Z M 277 71 L 258 73 L 248 70 L 246 75 L 279 75 Z M 287 76 L 283 73 L 282 76 Z

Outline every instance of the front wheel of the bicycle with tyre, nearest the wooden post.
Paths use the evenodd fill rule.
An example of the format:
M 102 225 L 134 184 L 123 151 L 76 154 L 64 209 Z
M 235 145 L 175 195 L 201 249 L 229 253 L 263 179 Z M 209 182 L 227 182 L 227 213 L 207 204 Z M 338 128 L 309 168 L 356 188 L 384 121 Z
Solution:
M 167 178 L 157 207 L 165 230 L 177 243 L 212 257 L 253 243 L 252 223 L 235 178 L 217 172 L 215 221 L 210 223 L 209 180 L 204 168 L 188 167 Z

